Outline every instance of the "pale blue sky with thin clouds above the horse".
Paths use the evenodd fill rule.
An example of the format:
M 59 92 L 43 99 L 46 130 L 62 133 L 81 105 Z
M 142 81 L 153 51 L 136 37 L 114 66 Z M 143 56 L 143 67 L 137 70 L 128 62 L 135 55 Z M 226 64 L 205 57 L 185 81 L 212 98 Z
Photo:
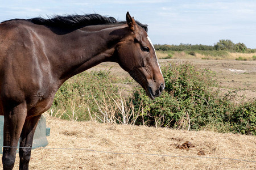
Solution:
M 230 0 L 0 0 L 0 22 L 14 18 L 97 13 L 148 24 L 154 44 L 214 45 L 220 39 L 256 48 L 256 1 Z

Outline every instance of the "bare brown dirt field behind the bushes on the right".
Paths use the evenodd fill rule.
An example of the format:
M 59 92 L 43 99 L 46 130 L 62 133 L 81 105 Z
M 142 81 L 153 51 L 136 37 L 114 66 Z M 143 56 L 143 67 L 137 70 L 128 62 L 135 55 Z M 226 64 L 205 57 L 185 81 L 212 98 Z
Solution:
M 164 62 L 164 60 L 162 60 Z M 165 62 L 170 61 L 167 60 Z M 256 90 L 256 61 L 171 59 L 173 62 L 188 61 L 200 68 L 216 72 L 217 80 L 225 88 Z

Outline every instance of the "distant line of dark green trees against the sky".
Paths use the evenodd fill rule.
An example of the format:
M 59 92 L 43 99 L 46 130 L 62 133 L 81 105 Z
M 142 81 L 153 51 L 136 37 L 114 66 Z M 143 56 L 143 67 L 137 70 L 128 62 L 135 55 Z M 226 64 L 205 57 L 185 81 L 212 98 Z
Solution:
M 163 51 L 196 51 L 196 50 L 225 50 L 228 52 L 238 52 L 238 53 L 255 53 L 256 49 L 247 48 L 245 44 L 239 42 L 234 44 L 231 40 L 220 40 L 216 44 L 212 45 L 202 45 L 202 44 L 180 44 L 180 45 L 154 45 L 156 50 Z

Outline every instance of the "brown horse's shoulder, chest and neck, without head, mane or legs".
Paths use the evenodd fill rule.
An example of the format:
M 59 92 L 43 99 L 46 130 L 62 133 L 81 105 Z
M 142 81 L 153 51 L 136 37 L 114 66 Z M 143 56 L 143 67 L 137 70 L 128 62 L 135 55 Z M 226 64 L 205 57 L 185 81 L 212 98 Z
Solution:
M 97 33 L 89 28 L 89 31 L 76 30 L 56 35 L 44 25 L 26 20 L 11 22 L 3 23 L 3 27 L 8 27 L 6 32 L 0 29 L 0 49 L 6 49 L 0 51 L 1 68 L 4 68 L 0 89 L 5 95 L 3 97 L 15 99 L 16 103 L 26 100 L 28 112 L 33 109 L 28 116 L 40 114 L 34 109 L 49 103 L 48 107 L 43 106 L 43 110 L 47 111 L 55 92 L 65 80 L 100 62 L 110 61 L 113 56 L 114 49 L 108 48 L 109 44 L 102 39 L 102 35 L 108 35 L 117 25 L 112 29 L 104 28 L 107 31 L 100 29 Z M 93 41 L 97 42 L 97 46 Z

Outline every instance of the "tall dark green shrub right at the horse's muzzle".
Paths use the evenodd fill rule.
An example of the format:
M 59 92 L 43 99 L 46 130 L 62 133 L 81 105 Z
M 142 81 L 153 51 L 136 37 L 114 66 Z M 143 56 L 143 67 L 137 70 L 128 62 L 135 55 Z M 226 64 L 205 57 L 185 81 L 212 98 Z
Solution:
M 204 103 L 200 107 L 205 109 L 208 107 L 209 97 L 215 97 L 214 93 L 210 93 L 212 91 L 210 87 L 216 85 L 216 81 L 210 76 L 214 74 L 212 71 L 201 71 L 191 64 L 183 63 L 164 67 L 162 72 L 166 81 L 162 96 L 151 101 L 143 91 L 136 91 L 134 95 L 134 105 L 137 101 L 143 101 L 143 116 L 146 117 L 141 119 L 144 124 L 146 122 L 146 125 L 155 125 L 155 122 L 159 122 L 158 125 L 177 128 L 186 113 L 195 114 L 191 115 L 192 117 L 196 116 L 200 112 L 196 106 Z M 197 118 L 193 120 L 197 121 Z M 193 126 L 203 126 L 204 123 L 199 124 L 193 124 Z

